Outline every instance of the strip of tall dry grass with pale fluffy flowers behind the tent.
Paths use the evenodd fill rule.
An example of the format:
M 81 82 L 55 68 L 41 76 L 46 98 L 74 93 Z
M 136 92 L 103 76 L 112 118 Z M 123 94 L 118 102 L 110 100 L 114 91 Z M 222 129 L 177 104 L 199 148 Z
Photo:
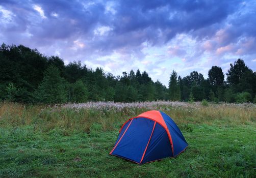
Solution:
M 256 105 L 253 104 L 209 104 L 200 103 L 155 103 L 147 102 L 122 106 L 122 103 L 97 103 L 77 105 L 25 105 L 0 103 L 0 126 L 18 127 L 32 125 L 35 129 L 48 131 L 54 128 L 90 131 L 93 123 L 101 125 L 103 130 L 113 130 L 130 117 L 147 110 L 162 110 L 170 115 L 177 125 L 183 124 L 250 124 L 256 121 Z

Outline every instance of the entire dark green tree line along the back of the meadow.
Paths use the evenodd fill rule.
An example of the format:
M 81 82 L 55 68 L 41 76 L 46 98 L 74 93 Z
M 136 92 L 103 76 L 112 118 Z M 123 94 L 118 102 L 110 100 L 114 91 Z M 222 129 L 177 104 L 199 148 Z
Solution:
M 92 70 L 81 62 L 64 65 L 58 56 L 45 56 L 23 45 L 0 46 L 0 101 L 65 103 L 87 101 L 208 101 L 255 102 L 256 72 L 238 59 L 224 73 L 218 66 L 208 78 L 193 71 L 185 77 L 172 71 L 168 88 L 146 71 L 122 76 Z

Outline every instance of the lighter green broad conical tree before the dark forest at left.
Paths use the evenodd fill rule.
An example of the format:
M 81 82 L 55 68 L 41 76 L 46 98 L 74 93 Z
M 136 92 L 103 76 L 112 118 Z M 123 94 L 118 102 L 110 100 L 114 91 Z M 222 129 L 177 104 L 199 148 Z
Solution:
M 46 69 L 43 81 L 39 84 L 34 96 L 38 102 L 47 104 L 67 101 L 67 82 L 60 76 L 57 67 L 50 65 Z

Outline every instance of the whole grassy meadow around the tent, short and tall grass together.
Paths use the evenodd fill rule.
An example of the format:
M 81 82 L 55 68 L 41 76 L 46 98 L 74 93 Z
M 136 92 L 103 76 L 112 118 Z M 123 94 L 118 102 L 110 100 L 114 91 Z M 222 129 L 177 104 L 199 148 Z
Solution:
M 110 156 L 128 118 L 160 109 L 189 146 L 138 165 Z M 255 177 L 256 105 L 0 103 L 0 177 Z

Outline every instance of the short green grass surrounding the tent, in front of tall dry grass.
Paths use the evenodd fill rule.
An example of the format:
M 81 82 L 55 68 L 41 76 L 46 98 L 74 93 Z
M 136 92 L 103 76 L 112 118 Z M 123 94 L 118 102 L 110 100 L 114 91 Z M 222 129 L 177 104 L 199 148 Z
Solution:
M 172 109 L 164 111 L 178 115 Z M 63 126 L 49 124 L 62 117 L 58 111 L 46 116 L 37 114 L 41 120 L 35 114 L 31 115 L 35 117 L 31 122 L 20 125 L 8 125 L 8 118 L 12 121 L 14 117 L 0 115 L 0 177 L 256 176 L 254 116 L 246 122 L 237 120 L 233 123 L 231 118 L 213 120 L 208 117 L 203 122 L 202 118 L 191 113 L 183 121 L 176 120 L 189 144 L 184 153 L 176 158 L 138 165 L 109 155 L 124 121 L 124 118 L 118 120 L 117 117 L 125 117 L 124 113 L 105 114 L 106 120 L 112 121 L 110 125 L 97 118 L 90 120 L 88 129 L 69 128 L 66 122 Z M 71 111 L 68 114 L 72 114 Z M 15 118 L 15 121 L 19 119 Z

